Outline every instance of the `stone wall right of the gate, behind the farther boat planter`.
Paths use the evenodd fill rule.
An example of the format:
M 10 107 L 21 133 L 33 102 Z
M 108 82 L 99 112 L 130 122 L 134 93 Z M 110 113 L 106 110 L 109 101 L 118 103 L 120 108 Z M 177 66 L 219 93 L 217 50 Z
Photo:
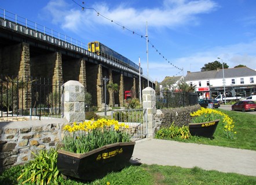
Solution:
M 173 122 L 173 124 L 180 127 L 183 125 L 188 126 L 188 123 L 190 123 L 192 119 L 190 113 L 199 109 L 200 105 L 197 104 L 189 107 L 157 110 L 155 122 L 158 129 L 155 130 L 155 133 L 157 130 L 159 130 L 160 127 L 170 127 Z

